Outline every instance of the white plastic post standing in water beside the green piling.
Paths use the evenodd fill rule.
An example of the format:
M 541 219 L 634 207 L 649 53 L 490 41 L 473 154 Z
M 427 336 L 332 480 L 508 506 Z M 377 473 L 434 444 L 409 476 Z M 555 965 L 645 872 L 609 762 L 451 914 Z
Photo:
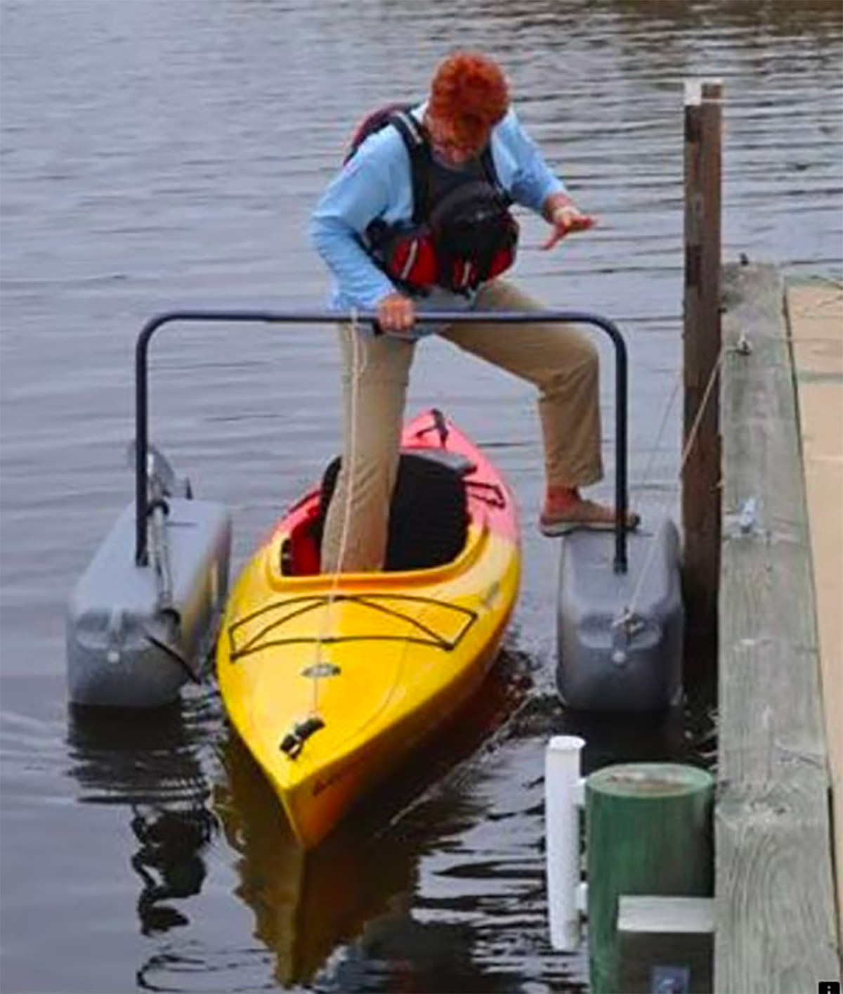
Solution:
M 544 756 L 544 819 L 550 943 L 574 952 L 580 945 L 580 812 L 577 786 L 585 740 L 554 736 Z

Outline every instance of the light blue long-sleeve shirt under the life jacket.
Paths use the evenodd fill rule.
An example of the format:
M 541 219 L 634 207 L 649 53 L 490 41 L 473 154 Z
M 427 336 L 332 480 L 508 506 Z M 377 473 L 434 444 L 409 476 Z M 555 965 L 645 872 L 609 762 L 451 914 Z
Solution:
M 412 110 L 421 120 L 425 104 Z M 565 186 L 544 163 L 535 144 L 510 109 L 492 130 L 492 159 L 498 181 L 516 204 L 540 213 L 546 199 Z M 314 211 L 310 237 L 335 277 L 331 306 L 337 310 L 375 310 L 395 292 L 392 281 L 363 247 L 366 228 L 376 218 L 388 225 L 413 215 L 410 157 L 401 135 L 385 127 L 369 135 L 332 180 Z M 434 288 L 416 300 L 419 310 L 462 310 L 466 297 Z M 434 330 L 425 326 L 424 331 Z M 421 332 L 417 326 L 416 334 Z M 423 332 L 421 332 L 423 333 Z

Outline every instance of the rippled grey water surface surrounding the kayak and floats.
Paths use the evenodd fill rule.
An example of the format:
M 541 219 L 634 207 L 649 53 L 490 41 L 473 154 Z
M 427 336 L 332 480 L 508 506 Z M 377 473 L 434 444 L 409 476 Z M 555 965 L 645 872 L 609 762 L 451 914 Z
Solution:
M 307 861 L 211 681 L 146 720 L 69 716 L 64 604 L 132 494 L 142 322 L 177 304 L 320 304 L 304 229 L 353 122 L 423 92 L 460 43 L 502 59 L 522 117 L 600 219 L 551 254 L 526 222 L 518 278 L 627 332 L 632 496 L 663 506 L 678 464 L 675 406 L 654 444 L 680 356 L 683 81 L 725 83 L 727 257 L 839 277 L 839 0 L 3 0 L 0 13 L 2 989 L 582 989 L 584 957 L 547 939 L 543 751 L 575 727 L 552 693 L 558 548 L 532 524 L 538 429 L 517 383 L 445 343 L 419 350 L 411 409 L 452 414 L 516 489 L 521 599 L 482 700 Z M 153 436 L 232 508 L 237 566 L 335 452 L 335 347 L 303 327 L 156 341 Z M 589 767 L 707 748 L 705 723 L 682 716 L 584 731 Z

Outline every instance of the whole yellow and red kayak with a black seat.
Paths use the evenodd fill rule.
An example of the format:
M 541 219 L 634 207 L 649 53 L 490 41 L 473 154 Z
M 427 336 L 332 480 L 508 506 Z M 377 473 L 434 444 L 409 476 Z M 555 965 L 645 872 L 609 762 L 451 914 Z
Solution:
M 320 573 L 338 471 L 243 569 L 216 650 L 228 718 L 306 849 L 478 690 L 520 577 L 512 495 L 440 412 L 404 427 L 380 572 Z

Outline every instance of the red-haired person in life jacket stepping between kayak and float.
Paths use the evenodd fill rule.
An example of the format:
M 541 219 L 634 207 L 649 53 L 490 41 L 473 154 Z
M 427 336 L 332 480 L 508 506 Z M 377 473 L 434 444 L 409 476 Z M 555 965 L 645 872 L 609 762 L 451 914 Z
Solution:
M 594 346 L 566 325 L 493 323 L 495 310 L 541 309 L 498 278 L 517 239 L 508 201 L 551 226 L 544 249 L 595 223 L 524 132 L 497 64 L 457 52 L 437 68 L 429 99 L 369 134 L 317 206 L 311 236 L 336 277 L 333 305 L 376 312 L 383 332 L 346 328 L 341 338 L 345 455 L 323 537 L 327 573 L 382 568 L 420 310 L 490 312 L 488 324 L 435 330 L 538 388 L 541 531 L 613 527 L 614 508 L 580 494 L 603 476 Z

